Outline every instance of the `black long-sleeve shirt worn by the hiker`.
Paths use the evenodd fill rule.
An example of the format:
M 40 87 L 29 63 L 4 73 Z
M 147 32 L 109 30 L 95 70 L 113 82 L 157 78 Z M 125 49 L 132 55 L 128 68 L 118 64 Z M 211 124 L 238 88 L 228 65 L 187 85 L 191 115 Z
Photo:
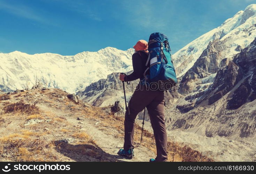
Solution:
M 143 73 L 146 70 L 146 61 L 148 59 L 148 53 L 146 52 L 135 52 L 132 56 L 133 60 L 133 73 L 125 76 L 125 82 L 134 81 L 140 78 L 142 80 L 144 78 Z

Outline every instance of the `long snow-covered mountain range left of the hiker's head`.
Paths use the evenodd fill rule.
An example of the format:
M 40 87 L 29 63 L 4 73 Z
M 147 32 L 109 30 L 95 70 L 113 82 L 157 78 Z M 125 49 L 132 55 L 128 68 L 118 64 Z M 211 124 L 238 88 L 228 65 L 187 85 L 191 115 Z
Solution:
M 122 51 L 112 47 L 74 56 L 30 55 L 18 51 L 0 53 L 0 90 L 25 89 L 27 85 L 31 88 L 37 79 L 43 86 L 74 93 L 108 74 L 131 70 L 133 53 L 133 48 Z

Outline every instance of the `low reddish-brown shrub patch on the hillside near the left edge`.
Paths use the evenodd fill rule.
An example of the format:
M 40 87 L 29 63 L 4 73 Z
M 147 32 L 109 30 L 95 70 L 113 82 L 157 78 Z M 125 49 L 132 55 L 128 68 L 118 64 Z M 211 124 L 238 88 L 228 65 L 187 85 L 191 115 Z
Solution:
M 18 103 L 8 104 L 3 108 L 5 113 L 23 113 L 23 114 L 39 114 L 39 108 L 36 104 L 25 104 L 22 101 Z

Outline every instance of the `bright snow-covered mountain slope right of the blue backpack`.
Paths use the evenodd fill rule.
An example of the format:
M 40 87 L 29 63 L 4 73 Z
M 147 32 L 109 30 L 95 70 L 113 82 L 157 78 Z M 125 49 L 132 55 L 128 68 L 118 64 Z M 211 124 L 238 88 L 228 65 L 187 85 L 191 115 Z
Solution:
M 178 76 L 185 74 L 206 49 L 210 41 L 222 42 L 223 57 L 231 58 L 247 47 L 256 37 L 256 4 L 249 5 L 215 28 L 173 54 L 173 62 Z

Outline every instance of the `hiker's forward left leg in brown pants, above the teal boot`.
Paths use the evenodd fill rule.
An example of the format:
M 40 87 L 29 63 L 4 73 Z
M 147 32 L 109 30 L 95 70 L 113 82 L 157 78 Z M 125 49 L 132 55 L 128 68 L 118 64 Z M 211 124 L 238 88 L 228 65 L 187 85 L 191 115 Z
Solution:
M 153 97 L 148 94 L 145 88 L 138 89 L 134 91 L 128 105 L 128 109 L 125 113 L 125 142 L 123 144 L 123 149 L 128 150 L 133 145 L 134 136 L 134 125 L 135 119 L 139 112 L 141 112 L 152 100 Z

